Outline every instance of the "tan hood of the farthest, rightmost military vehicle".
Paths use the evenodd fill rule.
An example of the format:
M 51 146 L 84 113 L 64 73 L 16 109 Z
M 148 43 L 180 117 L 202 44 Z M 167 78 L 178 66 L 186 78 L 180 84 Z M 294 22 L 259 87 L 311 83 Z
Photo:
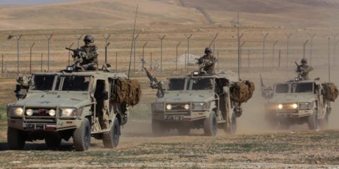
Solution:
M 316 101 L 314 94 L 275 94 L 271 103 L 311 102 Z

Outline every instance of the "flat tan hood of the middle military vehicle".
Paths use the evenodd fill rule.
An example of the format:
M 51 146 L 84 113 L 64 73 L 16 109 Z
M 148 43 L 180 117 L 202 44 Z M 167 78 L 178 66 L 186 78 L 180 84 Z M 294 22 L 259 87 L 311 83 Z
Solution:
M 157 102 L 207 102 L 213 99 L 215 99 L 213 91 L 166 92 L 164 97 L 157 99 Z

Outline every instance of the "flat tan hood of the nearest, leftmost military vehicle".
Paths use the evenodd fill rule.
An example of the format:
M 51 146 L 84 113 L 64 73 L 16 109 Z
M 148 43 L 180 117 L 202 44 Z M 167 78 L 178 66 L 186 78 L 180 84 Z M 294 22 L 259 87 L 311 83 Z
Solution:
M 25 99 L 16 101 L 17 106 L 28 107 L 80 107 L 89 102 L 88 96 L 84 94 L 71 94 L 62 96 L 60 94 L 28 94 Z

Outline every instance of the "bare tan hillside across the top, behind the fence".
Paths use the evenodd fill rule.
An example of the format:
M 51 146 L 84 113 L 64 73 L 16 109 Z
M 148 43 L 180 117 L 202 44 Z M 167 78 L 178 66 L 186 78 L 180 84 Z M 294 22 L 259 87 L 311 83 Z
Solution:
M 137 3 L 138 28 L 202 27 L 211 23 L 231 27 L 238 11 L 241 23 L 251 27 L 339 25 L 337 0 L 81 0 L 0 5 L 0 30 L 129 29 Z

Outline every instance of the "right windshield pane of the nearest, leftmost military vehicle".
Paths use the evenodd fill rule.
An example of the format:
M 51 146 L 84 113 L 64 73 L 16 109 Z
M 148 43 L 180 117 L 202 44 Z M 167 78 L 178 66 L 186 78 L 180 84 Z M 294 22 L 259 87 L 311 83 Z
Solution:
M 63 76 L 62 91 L 88 91 L 89 76 Z

